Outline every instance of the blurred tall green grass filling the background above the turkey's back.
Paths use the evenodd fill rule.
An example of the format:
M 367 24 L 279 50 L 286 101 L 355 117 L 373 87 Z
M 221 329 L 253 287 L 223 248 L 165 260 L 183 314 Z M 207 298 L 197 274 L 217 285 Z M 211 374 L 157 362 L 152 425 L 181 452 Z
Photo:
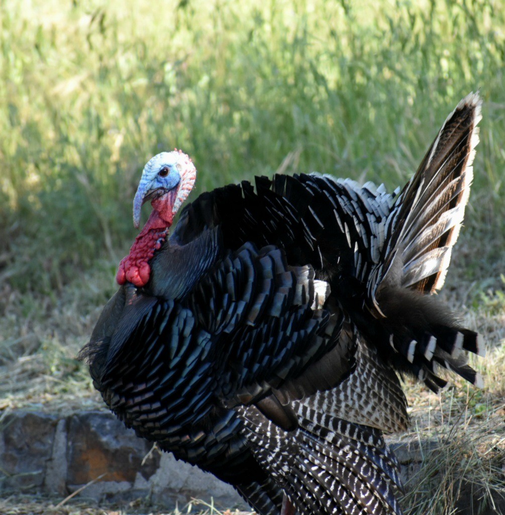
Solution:
M 98 258 L 117 264 L 140 171 L 161 150 L 194 158 L 198 193 L 279 167 L 394 187 L 479 88 L 467 269 L 503 259 L 501 1 L 4 0 L 0 17 L 11 287 L 54 292 Z

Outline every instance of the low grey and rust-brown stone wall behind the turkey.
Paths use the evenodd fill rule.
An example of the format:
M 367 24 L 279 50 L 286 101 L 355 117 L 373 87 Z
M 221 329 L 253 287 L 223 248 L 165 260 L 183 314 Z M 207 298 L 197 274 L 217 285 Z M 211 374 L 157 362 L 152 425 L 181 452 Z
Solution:
M 436 442 L 390 441 L 402 465 L 404 483 L 419 470 Z M 232 508 L 246 505 L 235 490 L 211 474 L 152 451 L 111 413 L 90 410 L 69 415 L 13 411 L 0 418 L 0 495 L 10 492 L 80 496 L 96 501 L 130 501 L 148 497 L 172 509 L 192 497 Z M 480 505 L 476 492 L 463 492 L 458 513 Z M 505 502 L 496 502 L 505 512 Z M 497 513 L 495 510 L 484 513 Z

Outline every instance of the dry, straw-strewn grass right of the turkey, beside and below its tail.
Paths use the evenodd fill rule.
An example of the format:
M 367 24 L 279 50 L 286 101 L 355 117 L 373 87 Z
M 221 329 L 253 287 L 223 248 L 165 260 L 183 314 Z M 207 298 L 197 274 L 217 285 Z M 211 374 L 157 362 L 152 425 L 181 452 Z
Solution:
M 486 341 L 486 357 L 471 357 L 485 386 L 475 389 L 450 377 L 434 396 L 420 384 L 405 384 L 412 424 L 400 440 L 430 442 L 406 485 L 408 515 L 505 513 L 505 303 L 500 289 L 472 293 L 475 284 L 464 281 L 455 287 L 458 273 L 456 266 L 443 295 L 453 309 L 477 306 L 463 318 Z

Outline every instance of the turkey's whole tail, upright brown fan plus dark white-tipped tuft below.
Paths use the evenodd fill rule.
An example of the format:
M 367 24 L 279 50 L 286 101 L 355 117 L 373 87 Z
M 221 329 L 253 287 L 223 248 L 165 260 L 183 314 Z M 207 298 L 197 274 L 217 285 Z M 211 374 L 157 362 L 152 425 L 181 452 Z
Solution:
M 393 364 L 433 391 L 446 384 L 437 376 L 439 367 L 482 385 L 463 352 L 484 354 L 477 333 L 426 295 L 442 287 L 463 222 L 480 112 L 479 94 L 471 93 L 446 119 L 398 197 L 387 221 L 381 259 L 368 282 L 370 308 L 386 329 Z

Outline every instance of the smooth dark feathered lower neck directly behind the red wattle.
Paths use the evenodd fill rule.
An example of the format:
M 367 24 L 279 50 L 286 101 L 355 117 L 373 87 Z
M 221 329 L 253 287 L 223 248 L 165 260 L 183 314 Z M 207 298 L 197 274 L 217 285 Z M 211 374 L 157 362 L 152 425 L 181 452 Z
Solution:
M 205 229 L 193 241 L 180 245 L 176 237 L 166 239 L 154 253 L 146 293 L 165 299 L 181 299 L 220 256 L 217 228 Z

